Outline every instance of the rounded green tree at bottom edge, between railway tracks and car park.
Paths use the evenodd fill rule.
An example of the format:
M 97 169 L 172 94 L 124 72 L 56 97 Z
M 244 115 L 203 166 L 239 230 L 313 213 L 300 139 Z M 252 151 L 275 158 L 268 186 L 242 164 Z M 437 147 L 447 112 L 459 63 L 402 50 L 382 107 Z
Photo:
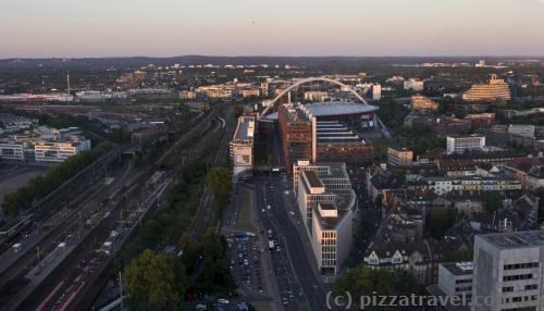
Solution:
M 144 250 L 123 271 L 131 310 L 177 310 L 185 296 L 185 268 L 177 258 Z

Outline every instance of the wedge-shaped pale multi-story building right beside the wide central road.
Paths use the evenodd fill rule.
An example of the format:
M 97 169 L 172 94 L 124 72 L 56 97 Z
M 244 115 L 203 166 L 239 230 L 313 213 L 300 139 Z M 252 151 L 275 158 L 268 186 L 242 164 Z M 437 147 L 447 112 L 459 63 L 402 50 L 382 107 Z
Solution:
M 295 166 L 299 211 L 318 268 L 322 274 L 336 274 L 351 247 L 357 208 L 346 166 Z

